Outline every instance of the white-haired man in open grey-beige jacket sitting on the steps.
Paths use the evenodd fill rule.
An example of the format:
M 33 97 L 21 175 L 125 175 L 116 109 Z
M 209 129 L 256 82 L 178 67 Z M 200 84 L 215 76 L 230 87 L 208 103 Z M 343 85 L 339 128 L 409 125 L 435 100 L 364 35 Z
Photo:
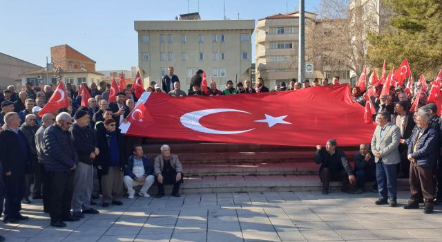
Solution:
M 158 186 L 157 198 L 164 196 L 164 184 L 173 184 L 172 196 L 180 197 L 182 165 L 177 155 L 171 155 L 169 145 L 162 145 L 161 155 L 155 158 L 154 169 Z

